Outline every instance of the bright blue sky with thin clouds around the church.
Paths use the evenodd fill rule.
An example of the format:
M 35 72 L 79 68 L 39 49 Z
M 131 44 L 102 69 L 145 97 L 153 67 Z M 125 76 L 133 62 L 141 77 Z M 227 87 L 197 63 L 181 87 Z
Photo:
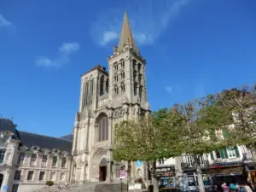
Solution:
M 2 0 L 0 113 L 23 131 L 72 132 L 80 75 L 108 67 L 125 9 L 153 111 L 255 83 L 255 0 Z

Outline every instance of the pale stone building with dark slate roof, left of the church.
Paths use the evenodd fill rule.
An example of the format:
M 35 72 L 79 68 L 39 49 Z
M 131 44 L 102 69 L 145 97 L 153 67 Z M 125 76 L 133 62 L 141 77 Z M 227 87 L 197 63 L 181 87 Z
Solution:
M 69 179 L 72 141 L 18 131 L 0 118 L 0 191 L 30 192 Z

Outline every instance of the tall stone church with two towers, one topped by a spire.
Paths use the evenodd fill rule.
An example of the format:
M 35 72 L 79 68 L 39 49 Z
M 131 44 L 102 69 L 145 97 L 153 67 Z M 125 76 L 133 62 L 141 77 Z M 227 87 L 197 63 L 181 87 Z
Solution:
M 145 65 L 125 12 L 119 45 L 108 57 L 109 72 L 97 65 L 81 77 L 79 112 L 73 128 L 72 181 L 108 181 L 119 177 L 120 166 L 127 169 L 127 162 L 112 159 L 113 128 L 122 120 L 149 112 Z M 130 176 L 136 174 L 136 164 L 131 163 Z

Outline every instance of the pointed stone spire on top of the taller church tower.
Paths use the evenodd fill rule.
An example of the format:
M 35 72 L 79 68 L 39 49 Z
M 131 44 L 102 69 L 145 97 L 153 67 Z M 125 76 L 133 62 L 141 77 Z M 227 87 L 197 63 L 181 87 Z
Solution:
M 124 20 L 123 20 L 123 26 L 122 26 L 122 31 L 119 37 L 119 50 L 124 48 L 124 45 L 126 43 L 131 44 L 131 46 L 135 49 L 136 45 L 134 42 L 134 39 L 132 37 L 132 33 L 131 33 L 131 27 L 129 24 L 129 20 L 128 20 L 128 16 L 126 14 L 125 11 L 125 15 L 124 15 Z

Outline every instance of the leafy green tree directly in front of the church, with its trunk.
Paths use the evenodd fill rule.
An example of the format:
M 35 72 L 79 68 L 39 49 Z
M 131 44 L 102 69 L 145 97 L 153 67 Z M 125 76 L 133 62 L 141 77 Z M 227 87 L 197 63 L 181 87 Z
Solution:
M 113 159 L 147 161 L 152 170 L 154 191 L 158 191 L 156 160 L 180 154 L 177 147 L 179 137 L 177 131 L 172 130 L 168 115 L 169 109 L 162 109 L 153 115 L 120 122 L 114 129 Z M 172 148 L 172 143 L 176 148 Z

